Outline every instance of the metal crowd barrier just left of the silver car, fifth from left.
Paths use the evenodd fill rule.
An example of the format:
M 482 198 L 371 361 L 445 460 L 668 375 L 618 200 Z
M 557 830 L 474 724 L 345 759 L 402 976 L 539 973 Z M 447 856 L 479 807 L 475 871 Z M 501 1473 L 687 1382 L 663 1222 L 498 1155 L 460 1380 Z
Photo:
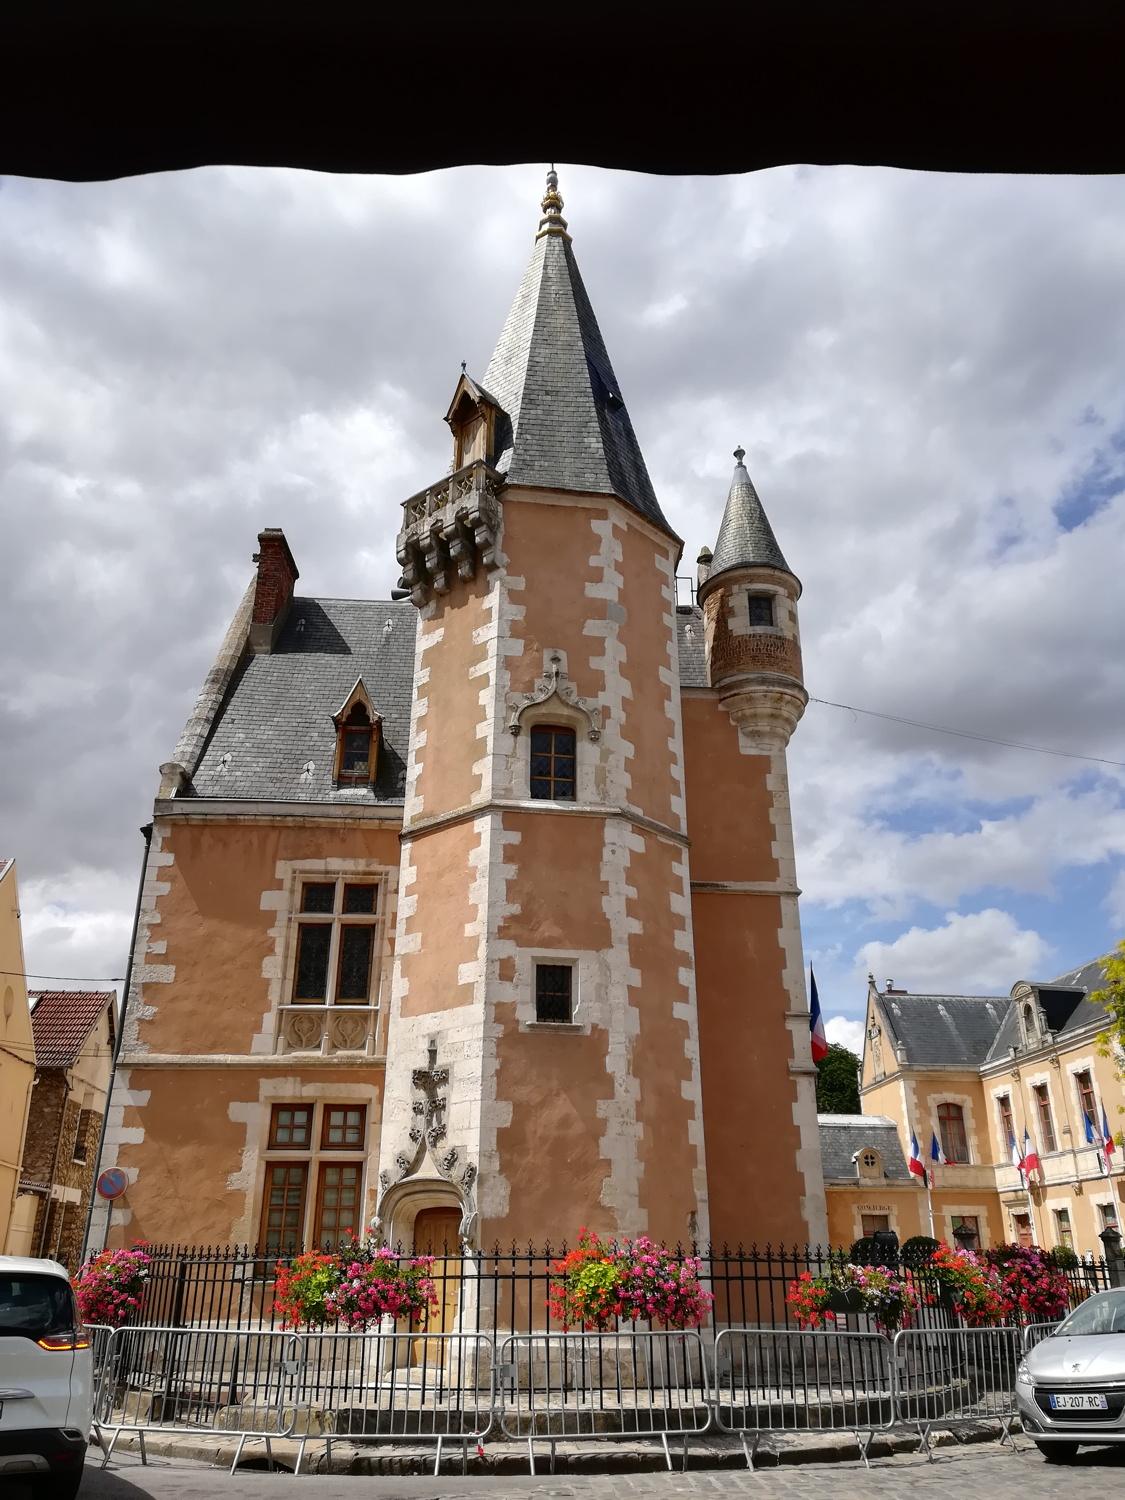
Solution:
M 1011 1440 L 1016 1419 L 1018 1328 L 903 1329 L 894 1336 L 896 1413 L 930 1454 L 930 1432 L 999 1422 Z M 930 1454 L 933 1456 L 933 1454 Z

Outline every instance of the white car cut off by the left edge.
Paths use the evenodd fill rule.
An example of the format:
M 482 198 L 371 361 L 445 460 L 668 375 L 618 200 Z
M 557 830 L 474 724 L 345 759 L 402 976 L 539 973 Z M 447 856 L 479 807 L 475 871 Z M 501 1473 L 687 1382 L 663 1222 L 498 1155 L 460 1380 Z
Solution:
M 66 1268 L 0 1256 L 0 1491 L 70 1500 L 93 1418 L 93 1352 Z

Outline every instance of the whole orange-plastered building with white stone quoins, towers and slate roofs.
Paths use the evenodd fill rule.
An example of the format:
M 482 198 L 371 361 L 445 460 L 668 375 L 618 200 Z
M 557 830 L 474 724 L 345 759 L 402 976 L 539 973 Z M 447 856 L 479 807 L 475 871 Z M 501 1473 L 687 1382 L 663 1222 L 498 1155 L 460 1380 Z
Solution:
M 678 578 L 554 172 L 450 386 L 393 597 L 264 530 L 160 768 L 93 1242 L 822 1240 L 801 585 L 742 450 Z

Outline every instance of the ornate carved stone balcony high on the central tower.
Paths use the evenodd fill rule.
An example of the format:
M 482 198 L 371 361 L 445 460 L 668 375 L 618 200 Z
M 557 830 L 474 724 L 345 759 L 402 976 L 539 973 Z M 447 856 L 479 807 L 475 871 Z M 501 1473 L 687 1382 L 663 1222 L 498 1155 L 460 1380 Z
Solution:
M 504 476 L 482 459 L 402 502 L 396 552 L 411 600 L 447 594 L 454 579 L 500 566 L 498 490 Z

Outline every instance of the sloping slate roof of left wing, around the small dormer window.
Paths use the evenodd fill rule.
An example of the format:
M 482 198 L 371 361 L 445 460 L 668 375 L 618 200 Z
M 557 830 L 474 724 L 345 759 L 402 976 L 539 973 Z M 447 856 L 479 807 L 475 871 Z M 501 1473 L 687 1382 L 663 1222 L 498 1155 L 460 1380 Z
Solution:
M 194 795 L 224 801 L 400 802 L 416 630 L 417 610 L 408 600 L 294 598 L 273 651 L 249 657 L 234 674 L 194 768 Z M 375 786 L 338 788 L 332 716 L 358 676 L 382 717 Z

